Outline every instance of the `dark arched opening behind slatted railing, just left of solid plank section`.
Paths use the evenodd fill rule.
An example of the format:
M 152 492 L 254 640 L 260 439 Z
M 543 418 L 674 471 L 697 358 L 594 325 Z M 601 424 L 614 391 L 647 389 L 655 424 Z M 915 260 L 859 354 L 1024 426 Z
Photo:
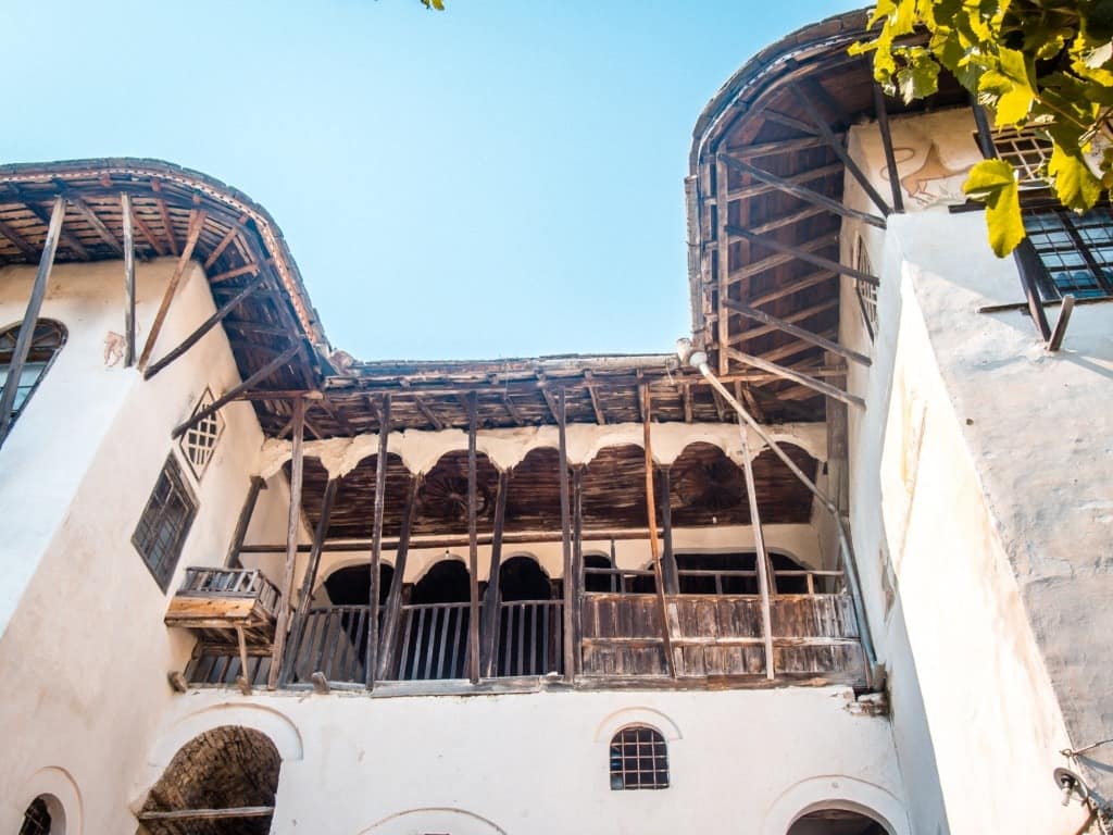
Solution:
M 520 554 L 499 572 L 499 676 L 539 676 L 559 669 L 561 608 L 553 583 L 532 557 Z

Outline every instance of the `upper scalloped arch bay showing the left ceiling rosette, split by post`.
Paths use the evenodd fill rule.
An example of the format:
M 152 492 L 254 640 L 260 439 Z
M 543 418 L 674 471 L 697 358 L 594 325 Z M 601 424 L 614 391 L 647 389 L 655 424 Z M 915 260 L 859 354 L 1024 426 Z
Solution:
M 475 455 L 475 515 L 483 529 L 491 527 L 499 471 L 491 459 Z M 417 491 L 413 532 L 445 534 L 467 532 L 467 451 L 446 452 L 425 473 Z

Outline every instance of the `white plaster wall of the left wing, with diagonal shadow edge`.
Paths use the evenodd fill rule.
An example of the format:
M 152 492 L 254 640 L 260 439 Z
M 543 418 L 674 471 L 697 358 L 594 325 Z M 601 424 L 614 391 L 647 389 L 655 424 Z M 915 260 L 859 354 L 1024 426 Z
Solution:
M 173 268 L 137 269 L 140 343 Z M 32 275 L 0 271 L 0 321 L 22 317 Z M 219 328 L 146 383 L 106 363 L 106 335 L 122 327 L 122 286 L 119 263 L 55 268 L 41 315 L 65 323 L 69 341 L 0 450 L 0 507 L 18 522 L 0 541 L 0 832 L 18 831 L 43 769 L 71 780 L 83 832 L 134 831 L 127 787 L 171 703 L 166 674 L 181 669 L 193 645 L 162 626 L 168 595 L 186 566 L 224 560 L 257 465 L 255 416 L 233 404 L 199 484 L 183 464 L 199 510 L 164 593 L 131 533 L 176 448 L 170 429 L 206 386 L 219 394 L 238 376 Z M 214 310 L 191 265 L 156 356 Z M 282 502 L 279 492 L 270 495 Z

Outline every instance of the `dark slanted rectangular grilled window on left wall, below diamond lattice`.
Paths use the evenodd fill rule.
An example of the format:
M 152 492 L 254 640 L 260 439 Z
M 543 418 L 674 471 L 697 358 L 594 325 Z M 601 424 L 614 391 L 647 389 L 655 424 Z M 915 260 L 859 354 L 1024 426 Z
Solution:
M 181 475 L 174 453 L 166 459 L 155 490 L 147 500 L 131 543 L 142 556 L 159 588 L 166 591 L 197 515 L 197 500 Z

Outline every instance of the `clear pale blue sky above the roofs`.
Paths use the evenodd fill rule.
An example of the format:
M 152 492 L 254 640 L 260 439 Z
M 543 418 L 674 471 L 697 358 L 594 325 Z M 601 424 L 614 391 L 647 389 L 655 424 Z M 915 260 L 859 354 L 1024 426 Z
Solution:
M 847 7 L 4 3 L 0 161 L 157 157 L 262 203 L 363 360 L 668 351 L 707 100 Z

